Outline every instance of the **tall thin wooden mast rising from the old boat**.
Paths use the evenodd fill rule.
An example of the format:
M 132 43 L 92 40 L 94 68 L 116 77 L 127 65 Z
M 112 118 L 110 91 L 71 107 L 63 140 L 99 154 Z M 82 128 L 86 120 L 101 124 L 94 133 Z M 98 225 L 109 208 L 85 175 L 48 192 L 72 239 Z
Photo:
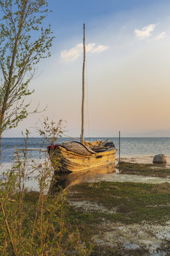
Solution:
M 86 45 L 85 45 L 85 24 L 84 24 L 84 63 L 83 63 L 83 79 L 82 79 L 82 105 L 81 105 L 81 143 L 84 143 L 84 73 L 86 60 Z

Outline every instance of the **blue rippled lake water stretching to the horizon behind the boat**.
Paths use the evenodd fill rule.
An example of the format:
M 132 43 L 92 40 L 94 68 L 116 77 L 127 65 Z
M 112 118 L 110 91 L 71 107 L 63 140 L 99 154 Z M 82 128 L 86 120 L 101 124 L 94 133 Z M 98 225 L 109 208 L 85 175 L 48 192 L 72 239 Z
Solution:
M 85 140 L 94 142 L 96 140 L 111 139 L 115 147 L 119 149 L 118 138 L 85 138 Z M 59 143 L 68 142 L 69 138 L 60 138 Z M 47 149 L 46 142 L 42 143 L 40 138 L 29 138 L 28 149 L 42 149 L 44 152 L 28 151 L 28 158 L 40 159 L 45 157 L 45 150 Z M 2 163 L 11 163 L 12 156 L 15 149 L 23 149 L 23 138 L 3 138 L 2 139 Z M 120 157 L 141 157 L 141 156 L 154 156 L 155 154 L 165 154 L 170 156 L 170 138 L 121 138 L 120 139 Z M 118 151 L 117 151 L 118 157 Z

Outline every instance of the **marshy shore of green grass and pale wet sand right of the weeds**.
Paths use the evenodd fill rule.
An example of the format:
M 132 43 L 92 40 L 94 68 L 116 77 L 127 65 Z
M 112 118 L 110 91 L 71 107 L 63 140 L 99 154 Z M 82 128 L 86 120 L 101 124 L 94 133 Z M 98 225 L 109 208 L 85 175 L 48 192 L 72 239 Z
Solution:
M 137 164 L 143 159 L 149 164 Z M 119 164 L 115 172 L 97 174 L 88 183 L 84 178 L 83 183 L 67 189 L 69 225 L 77 225 L 87 244 L 96 243 L 94 255 L 166 255 L 170 239 L 170 178 L 147 176 L 149 171 L 159 174 L 161 168 L 152 168 L 152 156 L 122 157 L 123 160 L 126 165 Z M 43 164 L 43 159 L 37 159 L 38 164 L 40 161 Z M 28 161 L 28 171 L 29 164 Z M 149 171 L 143 176 L 137 174 L 144 174 L 143 168 Z M 169 169 L 164 170 L 170 173 Z M 35 183 L 34 177 L 29 182 Z

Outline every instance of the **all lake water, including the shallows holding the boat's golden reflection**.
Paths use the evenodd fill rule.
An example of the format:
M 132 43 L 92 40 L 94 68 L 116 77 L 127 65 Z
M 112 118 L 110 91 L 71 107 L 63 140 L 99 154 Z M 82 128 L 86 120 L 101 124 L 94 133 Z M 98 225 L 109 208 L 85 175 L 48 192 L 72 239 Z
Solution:
M 85 138 L 88 141 L 94 142 L 96 140 L 102 139 L 105 141 L 106 139 L 111 139 L 115 147 L 119 149 L 119 139 L 118 138 Z M 59 143 L 62 142 L 68 142 L 70 141 L 69 138 L 60 138 Z M 47 142 L 42 142 L 42 139 L 40 138 L 29 138 L 27 149 L 32 149 L 30 151 L 27 151 L 27 181 L 26 186 L 28 188 L 38 190 L 38 175 L 40 174 L 40 170 L 35 170 L 32 173 L 32 160 L 36 162 L 36 164 L 43 164 L 45 157 L 47 157 Z M 13 163 L 13 157 L 16 149 L 24 149 L 26 147 L 24 143 L 23 138 L 4 138 L 2 139 L 2 156 L 1 156 L 1 166 L 0 166 L 0 178 L 3 178 L 2 173 L 8 169 L 11 169 L 12 163 Z M 38 149 L 41 149 L 39 151 Z M 19 151 L 22 157 L 22 151 Z M 116 164 L 118 162 L 118 154 L 119 151 L 116 153 Z M 165 154 L 166 160 L 167 160 L 167 166 L 170 167 L 170 138 L 121 138 L 120 139 L 120 158 L 125 161 L 137 161 L 137 162 L 143 162 L 143 163 L 152 163 L 153 156 L 155 154 Z M 116 178 L 119 178 L 120 175 L 115 174 L 114 171 L 107 171 L 106 173 L 102 169 L 97 169 L 96 174 L 91 176 L 89 174 L 90 178 L 88 178 L 91 182 L 94 181 L 100 181 L 105 180 L 107 178 L 110 179 L 110 181 L 116 181 Z M 113 174 L 111 174 L 114 172 Z M 107 175 L 106 175 L 107 174 Z M 67 177 L 64 177 L 64 179 Z M 129 181 L 127 180 L 128 177 L 124 176 L 123 181 Z M 131 177 L 130 177 L 131 178 Z M 72 181 L 72 183 L 80 182 L 87 182 L 87 175 L 74 177 L 74 175 L 69 175 L 69 179 Z M 152 178 L 153 179 L 153 178 Z M 50 184 L 51 178 L 49 180 Z M 133 181 L 134 182 L 134 181 Z M 142 182 L 138 181 L 137 182 Z M 155 182 L 155 181 L 153 181 Z M 163 182 L 163 181 L 157 181 L 157 182 Z

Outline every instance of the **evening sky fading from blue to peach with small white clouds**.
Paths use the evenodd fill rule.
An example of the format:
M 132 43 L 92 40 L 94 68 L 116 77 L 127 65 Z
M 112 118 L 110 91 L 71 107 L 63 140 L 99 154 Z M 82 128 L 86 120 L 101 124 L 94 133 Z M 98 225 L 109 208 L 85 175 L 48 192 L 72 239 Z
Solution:
M 38 136 L 44 117 L 81 134 L 86 26 L 85 137 L 170 136 L 170 1 L 50 0 L 51 57 L 30 82 L 30 114 L 4 137 Z

